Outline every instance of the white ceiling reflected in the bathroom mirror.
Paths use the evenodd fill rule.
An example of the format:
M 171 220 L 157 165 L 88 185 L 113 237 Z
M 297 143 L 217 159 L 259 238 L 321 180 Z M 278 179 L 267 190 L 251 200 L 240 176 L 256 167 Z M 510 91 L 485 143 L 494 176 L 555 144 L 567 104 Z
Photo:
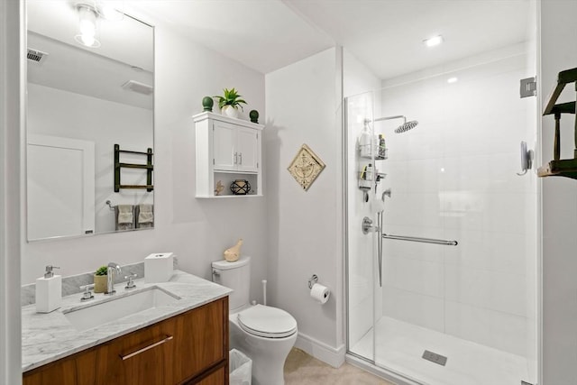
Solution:
M 154 84 L 153 30 L 149 25 L 130 17 L 100 20 L 102 46 L 94 49 L 74 39 L 78 34 L 74 2 L 28 0 L 26 16 L 28 48 L 48 54 L 41 62 L 27 61 L 30 83 L 152 109 L 151 95 L 123 87 L 129 81 Z

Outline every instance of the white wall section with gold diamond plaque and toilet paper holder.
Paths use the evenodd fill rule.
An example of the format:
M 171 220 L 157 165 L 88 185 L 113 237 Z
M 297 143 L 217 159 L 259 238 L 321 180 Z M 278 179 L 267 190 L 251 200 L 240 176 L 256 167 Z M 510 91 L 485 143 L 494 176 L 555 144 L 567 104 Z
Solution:
M 325 50 L 266 75 L 263 133 L 270 303 L 295 316 L 300 341 L 312 342 L 301 347 L 322 346 L 329 354 L 343 350 L 342 331 L 336 328 L 343 302 L 336 54 Z M 303 143 L 326 165 L 307 191 L 287 170 Z M 307 280 L 313 274 L 337 293 L 324 306 L 309 297 Z

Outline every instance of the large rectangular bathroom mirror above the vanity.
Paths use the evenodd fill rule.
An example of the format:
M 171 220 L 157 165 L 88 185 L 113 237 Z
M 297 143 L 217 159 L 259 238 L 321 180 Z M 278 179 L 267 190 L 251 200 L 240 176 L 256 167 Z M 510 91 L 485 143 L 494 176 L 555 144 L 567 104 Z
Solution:
M 28 241 L 154 225 L 154 30 L 106 3 L 26 4 Z

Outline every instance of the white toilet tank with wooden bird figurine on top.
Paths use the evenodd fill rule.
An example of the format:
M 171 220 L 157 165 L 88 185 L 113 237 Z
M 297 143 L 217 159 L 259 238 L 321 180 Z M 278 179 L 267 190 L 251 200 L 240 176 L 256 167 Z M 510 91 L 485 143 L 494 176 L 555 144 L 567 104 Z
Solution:
M 251 257 L 242 257 L 238 261 L 214 261 L 213 282 L 223 285 L 234 292 L 228 298 L 231 312 L 248 305 L 251 288 Z

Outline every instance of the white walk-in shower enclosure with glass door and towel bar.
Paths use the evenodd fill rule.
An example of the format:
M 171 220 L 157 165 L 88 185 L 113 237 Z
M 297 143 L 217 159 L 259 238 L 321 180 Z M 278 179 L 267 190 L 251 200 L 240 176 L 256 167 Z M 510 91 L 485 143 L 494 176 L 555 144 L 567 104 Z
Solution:
M 408 384 L 536 383 L 537 179 L 517 175 L 535 46 L 345 98 L 351 360 Z

